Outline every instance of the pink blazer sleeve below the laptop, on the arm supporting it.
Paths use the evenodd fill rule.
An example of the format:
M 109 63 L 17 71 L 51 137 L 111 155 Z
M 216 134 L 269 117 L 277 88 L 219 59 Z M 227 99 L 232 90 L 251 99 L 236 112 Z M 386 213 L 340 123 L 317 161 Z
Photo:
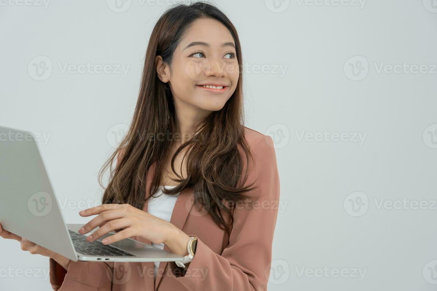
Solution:
M 121 155 L 117 156 L 117 163 Z M 112 269 L 104 262 L 70 262 L 65 270 L 50 258 L 50 284 L 54 291 L 111 291 Z

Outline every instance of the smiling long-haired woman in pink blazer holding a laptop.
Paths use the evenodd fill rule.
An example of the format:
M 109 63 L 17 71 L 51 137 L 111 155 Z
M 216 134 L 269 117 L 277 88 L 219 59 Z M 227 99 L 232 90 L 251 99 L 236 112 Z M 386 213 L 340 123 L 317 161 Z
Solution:
M 184 264 L 73 262 L 0 235 L 50 257 L 53 290 L 266 290 L 279 177 L 271 137 L 243 126 L 241 64 L 236 29 L 216 7 L 167 10 L 130 129 L 99 175 L 111 173 L 103 205 L 80 212 L 97 215 L 80 231 L 100 226 L 88 240 L 119 230 L 107 243 L 132 237 Z

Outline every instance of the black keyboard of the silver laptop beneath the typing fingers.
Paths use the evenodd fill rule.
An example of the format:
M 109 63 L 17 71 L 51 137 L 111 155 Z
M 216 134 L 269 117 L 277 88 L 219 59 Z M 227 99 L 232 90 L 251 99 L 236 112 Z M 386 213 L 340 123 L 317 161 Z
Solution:
M 94 242 L 88 242 L 86 236 L 69 230 L 71 240 L 73 240 L 73 246 L 77 252 L 83 253 L 88 256 L 104 256 L 104 257 L 136 257 L 132 253 L 125 252 L 114 246 L 104 245 L 103 243 L 95 240 Z

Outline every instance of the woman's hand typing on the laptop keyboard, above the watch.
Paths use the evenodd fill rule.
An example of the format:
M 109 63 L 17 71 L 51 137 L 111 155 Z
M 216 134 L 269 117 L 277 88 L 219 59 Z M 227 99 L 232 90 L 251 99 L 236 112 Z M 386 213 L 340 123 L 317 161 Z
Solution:
M 187 243 L 190 236 L 178 229 L 172 223 L 137 209 L 129 204 L 103 204 L 79 212 L 81 216 L 97 215 L 85 224 L 80 234 L 89 233 L 100 226 L 87 237 L 92 242 L 115 229 L 123 229 L 102 240 L 103 244 L 111 244 L 132 236 L 142 237 L 152 243 L 164 243 L 172 253 L 186 256 Z

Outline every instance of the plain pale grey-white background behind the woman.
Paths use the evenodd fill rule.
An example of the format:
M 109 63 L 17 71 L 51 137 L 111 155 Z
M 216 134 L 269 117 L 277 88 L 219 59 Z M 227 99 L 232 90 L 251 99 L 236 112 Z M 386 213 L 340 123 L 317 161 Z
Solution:
M 215 2 L 239 32 L 246 126 L 277 146 L 284 207 L 268 290 L 435 290 L 437 1 L 275 1 Z M 39 145 L 55 193 L 73 203 L 67 223 L 87 222 L 76 202 L 99 202 L 97 172 L 131 120 L 148 37 L 167 7 L 0 1 L 0 125 L 49 137 Z M 47 59 L 52 72 L 38 77 Z M 62 71 L 88 62 L 128 71 Z M 402 199 L 427 206 L 379 207 Z M 51 290 L 48 270 L 47 258 L 0 239 L 0 290 Z

